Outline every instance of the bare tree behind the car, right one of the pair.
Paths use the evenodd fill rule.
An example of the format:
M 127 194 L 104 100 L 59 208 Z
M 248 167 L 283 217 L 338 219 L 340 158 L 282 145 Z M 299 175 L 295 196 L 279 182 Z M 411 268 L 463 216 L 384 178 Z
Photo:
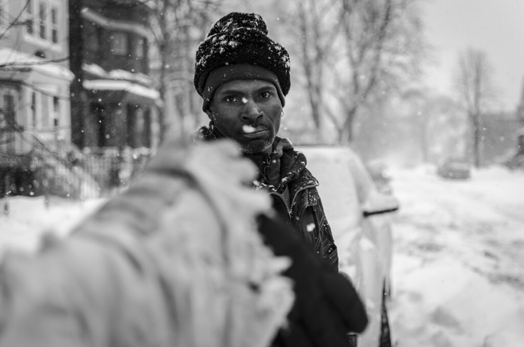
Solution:
M 412 0 L 340 0 L 345 48 L 343 65 L 335 69 L 338 83 L 332 94 L 342 116 L 331 109 L 330 116 L 340 142 L 352 142 L 359 109 L 370 96 L 388 97 L 401 89 L 402 78 L 418 72 L 418 58 L 424 51 L 421 22 Z

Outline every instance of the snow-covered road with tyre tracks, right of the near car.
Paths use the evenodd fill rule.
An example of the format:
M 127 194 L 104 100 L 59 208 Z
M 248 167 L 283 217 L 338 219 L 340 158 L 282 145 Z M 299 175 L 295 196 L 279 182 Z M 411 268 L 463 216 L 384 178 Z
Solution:
M 524 172 L 395 171 L 390 318 L 398 347 L 521 346 Z

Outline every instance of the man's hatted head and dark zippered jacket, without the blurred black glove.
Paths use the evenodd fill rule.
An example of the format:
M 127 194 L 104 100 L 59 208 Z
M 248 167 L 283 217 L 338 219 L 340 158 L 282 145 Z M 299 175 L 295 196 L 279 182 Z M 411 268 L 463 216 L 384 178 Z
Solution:
M 290 88 L 289 55 L 270 39 L 257 14 L 230 13 L 196 51 L 194 85 L 211 122 L 197 134 L 231 138 L 258 168 L 253 182 L 266 190 L 281 219 L 333 268 L 338 255 L 306 158 L 277 136 Z

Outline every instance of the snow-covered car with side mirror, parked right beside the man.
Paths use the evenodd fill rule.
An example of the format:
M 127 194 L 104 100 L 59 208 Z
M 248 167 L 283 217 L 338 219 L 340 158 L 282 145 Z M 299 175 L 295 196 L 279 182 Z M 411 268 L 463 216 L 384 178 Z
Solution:
M 398 200 L 380 193 L 362 160 L 348 147 L 302 145 L 339 252 L 339 270 L 364 301 L 369 325 L 358 346 L 391 346 L 387 316 L 391 294 L 390 212 Z

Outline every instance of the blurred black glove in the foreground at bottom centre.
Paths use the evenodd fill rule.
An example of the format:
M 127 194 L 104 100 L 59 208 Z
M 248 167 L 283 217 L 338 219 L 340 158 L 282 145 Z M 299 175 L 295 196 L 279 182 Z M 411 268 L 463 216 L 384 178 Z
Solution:
M 287 224 L 260 216 L 258 230 L 275 255 L 288 256 L 284 275 L 294 283 L 296 296 L 273 346 L 347 347 L 347 333 L 362 332 L 368 322 L 364 305 L 351 282 L 331 269 L 299 240 Z

